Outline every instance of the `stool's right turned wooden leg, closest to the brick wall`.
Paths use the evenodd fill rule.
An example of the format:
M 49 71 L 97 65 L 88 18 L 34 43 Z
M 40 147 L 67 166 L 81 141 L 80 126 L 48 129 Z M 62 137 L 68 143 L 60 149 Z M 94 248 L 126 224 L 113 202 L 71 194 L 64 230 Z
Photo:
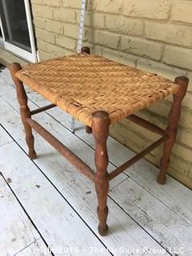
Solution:
M 189 79 L 186 77 L 178 77 L 175 78 L 175 83 L 177 83 L 180 88 L 178 93 L 174 94 L 174 102 L 170 110 L 169 123 L 166 128 L 166 134 L 168 134 L 170 138 L 164 144 L 164 150 L 160 164 L 160 174 L 158 175 L 158 183 L 162 185 L 166 182 L 166 170 L 170 165 L 170 154 L 173 149 L 174 142 L 177 138 L 178 122 L 182 110 L 182 99 L 186 95 Z

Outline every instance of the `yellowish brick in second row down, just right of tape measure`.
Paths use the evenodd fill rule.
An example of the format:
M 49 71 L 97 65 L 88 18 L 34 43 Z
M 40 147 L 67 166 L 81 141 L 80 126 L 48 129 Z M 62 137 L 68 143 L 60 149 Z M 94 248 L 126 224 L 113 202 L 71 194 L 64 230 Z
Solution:
M 116 15 L 106 16 L 106 29 L 121 34 L 142 35 L 143 22 L 138 19 L 119 17 Z

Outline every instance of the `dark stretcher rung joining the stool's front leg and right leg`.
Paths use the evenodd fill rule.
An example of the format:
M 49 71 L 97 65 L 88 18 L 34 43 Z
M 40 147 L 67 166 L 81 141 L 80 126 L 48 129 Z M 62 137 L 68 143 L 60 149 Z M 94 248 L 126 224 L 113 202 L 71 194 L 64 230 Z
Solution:
M 124 170 L 132 166 L 135 162 L 138 162 L 139 159 L 143 158 L 146 154 L 150 153 L 150 151 L 154 150 L 156 147 L 160 146 L 162 143 L 166 142 L 169 139 L 169 135 L 164 135 L 162 138 L 160 138 L 157 142 L 154 142 L 154 144 L 148 146 L 145 150 L 143 150 L 141 153 L 134 156 L 134 158 L 131 158 L 129 161 L 122 164 L 122 166 L 119 166 L 117 169 L 112 171 L 109 174 L 110 180 L 118 176 L 118 174 L 121 174 Z

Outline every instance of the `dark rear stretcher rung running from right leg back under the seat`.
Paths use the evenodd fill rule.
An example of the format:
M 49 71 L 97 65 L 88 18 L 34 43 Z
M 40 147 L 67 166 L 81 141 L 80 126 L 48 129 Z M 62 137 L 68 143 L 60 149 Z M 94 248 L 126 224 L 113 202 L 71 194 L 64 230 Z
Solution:
M 162 128 L 154 125 L 151 122 L 146 121 L 145 119 L 139 118 L 137 115 L 131 114 L 128 117 L 128 119 L 131 122 L 136 123 L 138 126 L 142 126 L 143 128 L 146 128 L 147 130 L 150 130 L 154 134 L 160 134 L 162 136 L 165 134 L 165 130 L 162 130 Z

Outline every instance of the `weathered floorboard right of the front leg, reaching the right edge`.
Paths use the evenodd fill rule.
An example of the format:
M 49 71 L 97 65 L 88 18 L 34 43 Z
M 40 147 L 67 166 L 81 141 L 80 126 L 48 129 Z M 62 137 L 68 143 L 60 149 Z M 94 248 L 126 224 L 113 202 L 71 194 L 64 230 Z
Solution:
M 162 246 L 172 251 L 182 248 L 184 255 L 192 255 L 192 226 L 138 183 L 127 179 L 110 196 Z

